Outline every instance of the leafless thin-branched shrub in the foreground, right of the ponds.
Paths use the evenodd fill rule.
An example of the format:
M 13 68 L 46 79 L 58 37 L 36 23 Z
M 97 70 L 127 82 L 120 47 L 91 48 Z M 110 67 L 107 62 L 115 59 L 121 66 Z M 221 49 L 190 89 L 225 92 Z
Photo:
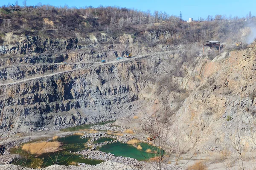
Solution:
M 162 105 L 160 108 L 162 107 L 164 107 L 164 105 Z M 160 108 L 157 111 L 159 111 Z M 148 153 L 149 155 L 148 157 L 151 157 L 151 160 L 153 162 L 149 161 L 148 163 L 151 164 L 151 168 L 153 168 L 154 170 L 169 169 L 170 167 L 168 167 L 168 164 L 169 164 L 170 156 L 176 152 L 178 153 L 178 156 L 173 167 L 173 169 L 175 169 L 181 156 L 185 153 L 185 149 L 187 145 L 191 143 L 194 137 L 189 142 L 187 142 L 187 144 L 183 145 L 183 147 L 180 147 L 180 144 L 177 141 L 179 137 L 179 134 L 178 134 L 173 144 L 171 145 L 168 144 L 168 141 L 170 138 L 170 135 L 169 135 L 170 120 L 167 121 L 167 119 L 169 118 L 169 116 L 167 115 L 169 115 L 168 113 L 169 111 L 166 110 L 163 113 L 162 117 L 161 116 L 159 117 L 156 114 L 157 111 L 154 112 L 154 114 L 152 115 L 154 116 L 154 123 L 150 121 L 141 121 L 143 124 L 143 128 L 145 130 L 145 134 L 143 135 L 143 137 L 145 138 L 145 136 L 149 136 L 147 137 L 147 142 L 153 146 L 153 147 L 150 147 L 151 152 Z M 175 145 L 177 145 L 178 147 L 176 148 Z M 170 150 L 169 152 L 166 152 L 167 147 Z M 194 154 L 192 154 L 192 156 L 188 159 L 188 161 L 185 164 L 180 164 L 179 168 L 184 168 L 186 164 L 192 159 Z

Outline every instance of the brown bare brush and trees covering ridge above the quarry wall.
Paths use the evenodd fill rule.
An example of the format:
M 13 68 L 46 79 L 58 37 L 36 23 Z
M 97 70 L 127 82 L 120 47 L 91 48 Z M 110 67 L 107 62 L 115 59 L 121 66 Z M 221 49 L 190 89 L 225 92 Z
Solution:
M 221 15 L 215 18 L 218 20 L 186 23 L 158 11 L 151 14 L 150 11 L 111 6 L 69 8 L 41 4 L 19 6 L 16 3 L 0 7 L 0 43 L 7 32 L 51 38 L 86 37 L 90 33 L 97 35 L 102 32 L 113 37 L 129 33 L 134 41 L 148 45 L 159 42 L 186 44 L 211 39 L 224 42 L 239 40 L 239 30 L 253 22 L 238 17 L 227 19 Z M 152 42 L 145 32 L 158 34 L 159 41 Z M 171 36 L 166 39 L 165 34 Z

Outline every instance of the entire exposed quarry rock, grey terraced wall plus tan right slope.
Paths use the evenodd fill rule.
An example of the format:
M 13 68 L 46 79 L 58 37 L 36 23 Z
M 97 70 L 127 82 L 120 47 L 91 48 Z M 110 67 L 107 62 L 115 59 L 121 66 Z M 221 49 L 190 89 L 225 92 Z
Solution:
M 152 41 L 172 36 L 147 34 Z M 220 152 L 238 142 L 255 150 L 255 43 L 213 60 L 168 51 L 175 49 L 171 45 L 143 46 L 128 34 L 90 36 L 81 44 L 23 37 L 0 47 L 2 128 L 80 125 L 137 114 L 153 122 L 157 111 L 170 125 L 169 143 L 178 136 L 179 144 L 189 143 L 186 151 L 198 146 L 201 153 Z M 116 60 L 129 53 L 135 57 Z

